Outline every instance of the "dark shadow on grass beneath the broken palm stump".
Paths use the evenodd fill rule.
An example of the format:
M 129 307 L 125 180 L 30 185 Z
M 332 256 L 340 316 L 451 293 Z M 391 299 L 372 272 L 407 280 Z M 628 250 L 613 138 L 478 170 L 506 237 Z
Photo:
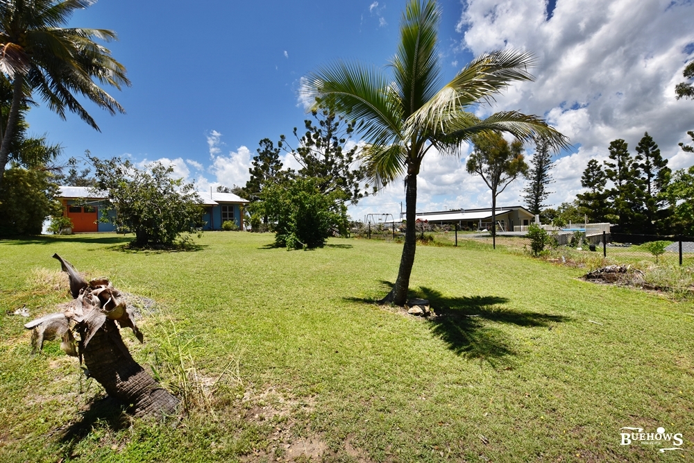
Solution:
M 74 447 L 90 435 L 94 428 L 107 427 L 118 431 L 130 426 L 128 414 L 115 398 L 105 397 L 96 400 L 81 415 L 82 419 L 72 423 L 60 438 L 61 442 L 68 444 L 65 449 L 67 457 L 71 456 Z

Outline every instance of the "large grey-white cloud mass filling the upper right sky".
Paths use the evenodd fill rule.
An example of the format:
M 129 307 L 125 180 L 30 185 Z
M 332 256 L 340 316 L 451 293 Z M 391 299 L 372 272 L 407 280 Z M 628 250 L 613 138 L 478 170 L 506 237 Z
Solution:
M 555 162 L 550 203 L 573 199 L 587 162 L 607 158 L 609 142 L 617 138 L 633 153 L 648 131 L 670 167 L 694 165 L 694 156 L 677 146 L 693 128 L 694 103 L 676 101 L 674 91 L 694 58 L 687 47 L 694 42 L 694 4 L 645 0 L 635 7 L 611 0 L 596 8 L 591 0 L 560 1 L 547 21 L 545 3 L 469 0 L 457 28 L 464 33 L 461 46 L 475 56 L 504 47 L 536 56 L 536 81 L 511 85 L 481 112 L 544 115 L 570 137 L 576 152 Z M 513 202 L 520 201 L 516 196 Z

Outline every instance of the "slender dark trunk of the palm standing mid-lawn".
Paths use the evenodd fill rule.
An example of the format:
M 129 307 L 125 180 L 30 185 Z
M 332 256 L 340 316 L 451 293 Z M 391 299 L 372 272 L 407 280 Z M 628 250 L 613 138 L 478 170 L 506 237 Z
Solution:
M 407 228 L 405 228 L 403 256 L 400 258 L 400 270 L 398 271 L 398 279 L 395 282 L 395 286 L 382 302 L 392 302 L 395 305 L 405 305 L 407 302 L 409 276 L 412 274 L 414 252 L 417 246 L 417 230 L 415 227 L 416 210 L 417 175 L 407 174 L 407 189 L 405 192 L 405 218 L 407 219 Z

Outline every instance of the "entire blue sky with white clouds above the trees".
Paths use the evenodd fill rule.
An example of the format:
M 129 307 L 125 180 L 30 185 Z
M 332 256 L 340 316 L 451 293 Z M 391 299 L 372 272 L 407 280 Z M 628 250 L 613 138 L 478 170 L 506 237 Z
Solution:
M 574 149 L 555 161 L 550 203 L 573 199 L 591 158 L 607 157 L 611 140 L 633 149 L 645 131 L 674 168 L 694 165 L 682 153 L 694 129 L 694 101 L 675 101 L 674 86 L 694 58 L 691 1 L 441 1 L 439 31 L 445 78 L 473 56 L 502 47 L 535 53 L 534 83 L 514 85 L 491 108 L 543 115 Z M 600 8 L 595 8 L 596 5 Z M 555 8 L 552 10 L 552 6 Z M 132 87 L 112 91 L 126 115 L 87 105 L 101 133 L 74 115 L 31 110 L 33 133 L 65 146 L 66 157 L 89 149 L 99 157 L 162 160 L 201 189 L 243 185 L 259 140 L 278 140 L 303 126 L 301 76 L 337 58 L 385 65 L 396 50 L 405 1 L 230 2 L 100 0 L 78 12 L 74 26 L 110 28 L 109 44 Z M 529 147 L 532 148 L 532 147 Z M 428 154 L 418 210 L 482 207 L 489 191 L 462 158 Z M 530 155 L 532 150 L 528 151 Z M 291 160 L 287 160 L 291 163 Z M 523 181 L 500 197 L 520 203 Z M 400 183 L 350 208 L 399 212 Z

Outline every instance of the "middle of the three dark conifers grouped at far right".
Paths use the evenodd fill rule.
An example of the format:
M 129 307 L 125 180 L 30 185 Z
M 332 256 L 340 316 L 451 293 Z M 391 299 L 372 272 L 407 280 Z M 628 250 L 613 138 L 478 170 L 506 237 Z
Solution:
M 618 215 L 621 233 L 642 233 L 645 226 L 645 193 L 638 158 L 629 153 L 627 142 L 613 140 L 609 144 L 609 158 L 605 161 L 605 174 L 614 187 L 610 190 L 612 210 Z

